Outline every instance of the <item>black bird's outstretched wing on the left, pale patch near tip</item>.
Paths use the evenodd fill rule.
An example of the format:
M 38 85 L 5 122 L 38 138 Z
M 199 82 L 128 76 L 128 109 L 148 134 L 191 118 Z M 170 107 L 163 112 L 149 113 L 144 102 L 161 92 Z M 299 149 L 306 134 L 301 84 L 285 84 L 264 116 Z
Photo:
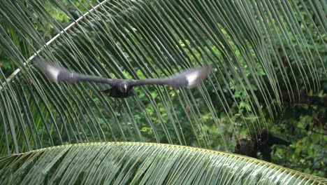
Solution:
M 67 83 L 76 83 L 78 81 L 93 81 L 98 83 L 106 83 L 110 85 L 117 85 L 126 81 L 124 79 L 111 79 L 111 78 L 103 78 L 101 76 L 92 76 L 92 75 L 85 75 L 79 74 L 74 71 L 70 71 L 64 67 L 60 67 L 57 64 L 50 64 L 41 60 L 39 57 L 36 57 L 34 60 L 36 66 L 41 69 L 43 74 L 47 76 L 52 81 L 61 81 Z

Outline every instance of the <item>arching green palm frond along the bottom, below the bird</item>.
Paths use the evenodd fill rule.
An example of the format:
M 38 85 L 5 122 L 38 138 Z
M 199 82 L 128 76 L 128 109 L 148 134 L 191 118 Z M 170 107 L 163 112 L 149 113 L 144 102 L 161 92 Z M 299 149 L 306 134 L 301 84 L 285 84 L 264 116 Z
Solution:
M 324 184 L 262 160 L 186 146 L 103 142 L 0 158 L 6 184 Z

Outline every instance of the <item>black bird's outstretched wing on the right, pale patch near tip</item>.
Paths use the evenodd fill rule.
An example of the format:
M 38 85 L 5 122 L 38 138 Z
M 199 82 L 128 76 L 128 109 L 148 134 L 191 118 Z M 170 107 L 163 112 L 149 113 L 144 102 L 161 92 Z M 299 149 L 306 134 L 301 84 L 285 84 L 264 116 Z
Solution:
M 201 83 L 205 78 L 208 77 L 212 67 L 210 65 L 204 67 L 198 67 L 196 69 L 189 69 L 182 71 L 179 74 L 175 74 L 168 78 L 149 78 L 133 80 L 130 82 L 131 85 L 149 85 L 149 84 L 161 84 L 169 85 L 173 88 L 194 88 L 198 83 Z

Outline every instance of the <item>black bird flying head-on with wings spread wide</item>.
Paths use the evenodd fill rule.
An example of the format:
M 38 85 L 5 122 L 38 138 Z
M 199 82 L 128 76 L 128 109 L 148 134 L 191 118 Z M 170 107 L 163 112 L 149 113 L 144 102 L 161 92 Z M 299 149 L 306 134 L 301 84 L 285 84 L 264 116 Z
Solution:
M 132 95 L 131 90 L 133 87 L 140 85 L 168 85 L 175 89 L 193 88 L 201 83 L 201 81 L 203 81 L 205 78 L 207 78 L 212 69 L 210 65 L 207 65 L 204 67 L 182 71 L 179 74 L 169 76 L 168 78 L 145 78 L 134 80 L 103 78 L 101 76 L 79 74 L 64 67 L 60 67 L 57 64 L 45 62 L 39 57 L 36 57 L 34 61 L 36 62 L 36 66 L 41 69 L 43 74 L 45 74 L 45 76 L 47 76 L 52 81 L 61 81 L 67 83 L 89 81 L 109 84 L 111 87 L 106 90 L 101 90 L 101 92 L 106 93 L 108 96 L 114 98 L 129 97 Z

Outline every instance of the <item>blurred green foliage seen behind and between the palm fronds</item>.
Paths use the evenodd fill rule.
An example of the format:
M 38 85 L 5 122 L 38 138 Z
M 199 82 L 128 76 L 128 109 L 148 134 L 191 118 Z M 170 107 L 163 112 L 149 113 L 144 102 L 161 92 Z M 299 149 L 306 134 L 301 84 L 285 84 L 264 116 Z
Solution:
M 298 1 L 296 1 L 298 3 Z M 72 18 L 79 18 L 83 13 L 85 13 L 89 8 L 92 8 L 92 4 L 96 4 L 96 1 L 92 1 L 90 4 L 89 1 L 77 1 L 74 4 L 71 4 L 70 1 L 60 1 L 61 5 L 64 6 L 68 12 L 62 11 L 58 6 L 51 6 L 51 4 L 45 4 L 45 8 L 48 9 L 50 15 L 52 15 L 56 20 L 59 26 L 66 27 L 72 21 Z M 300 4 L 300 3 L 298 3 Z M 306 2 L 309 4 L 309 2 Z M 310 7 L 310 6 L 309 6 Z M 27 4 L 27 8 L 29 8 L 29 4 Z M 79 10 L 79 11 L 78 11 Z M 300 14 L 303 15 L 304 21 L 307 22 L 307 25 L 310 25 L 307 29 L 310 30 L 310 35 L 312 38 L 308 38 L 308 40 L 312 39 L 314 43 L 308 44 L 305 46 L 306 48 L 301 48 L 303 45 L 293 46 L 293 48 L 285 48 L 287 46 L 287 40 L 282 40 L 284 43 L 275 43 L 275 48 L 277 48 L 279 55 L 278 57 L 274 57 L 274 50 L 270 51 L 271 62 L 276 64 L 277 60 L 285 60 L 284 62 L 284 73 L 280 72 L 274 76 L 273 80 L 275 81 L 283 81 L 285 78 L 289 79 L 289 85 L 281 85 L 279 88 L 281 92 L 290 93 L 290 94 L 307 94 L 307 95 L 315 95 L 319 97 L 326 97 L 327 93 L 327 78 L 326 78 L 326 69 L 324 67 L 327 66 L 327 50 L 326 50 L 326 27 L 324 24 L 321 24 L 319 20 L 315 19 L 313 10 L 305 10 L 302 6 L 299 6 Z M 312 14 L 308 14 L 312 13 Z M 282 20 L 283 22 L 287 22 L 289 20 Z M 36 23 L 36 22 L 34 22 Z M 38 22 L 40 23 L 40 22 Z M 314 25 L 312 24 L 314 23 Z M 15 46 L 17 46 L 24 55 L 24 58 L 28 58 L 31 56 L 35 49 L 28 46 L 27 41 L 22 39 L 21 34 L 17 34 L 13 28 L 10 28 L 9 25 L 6 25 L 5 22 L 1 22 L 3 27 L 6 27 L 6 32 L 8 35 L 12 36 L 13 41 L 15 41 Z M 44 41 L 48 41 L 52 39 L 54 34 L 58 32 L 56 27 L 53 27 L 52 24 L 48 22 L 41 22 L 41 24 L 36 24 L 38 26 L 42 25 L 43 27 L 37 27 L 41 35 L 43 36 Z M 325 25 L 326 26 L 326 25 Z M 47 28 L 47 29 L 44 29 Z M 47 30 L 47 32 L 44 32 Z M 224 27 L 221 27 L 223 32 L 227 32 Z M 323 30 L 321 32 L 317 32 L 317 30 Z M 296 36 L 287 28 L 284 32 L 288 32 L 291 40 L 294 40 L 293 37 Z M 324 33 L 321 35 L 321 33 Z M 131 32 L 127 32 L 126 34 L 131 34 Z M 242 35 L 241 35 L 242 36 Z M 246 36 L 246 35 L 243 35 Z M 278 37 L 279 35 L 275 35 Z M 176 36 L 178 37 L 178 36 Z M 219 61 L 224 61 L 226 58 L 224 55 L 221 55 L 221 50 L 219 50 L 215 45 L 212 45 L 212 41 L 210 38 L 206 43 L 208 46 L 206 50 L 209 55 L 204 55 L 203 62 L 210 61 L 210 57 L 215 58 Z M 228 38 L 231 39 L 231 38 Z M 32 39 L 31 39 L 32 40 Z M 86 41 L 87 42 L 87 41 Z M 198 57 L 201 57 L 203 54 L 198 51 L 198 48 L 194 46 L 194 43 L 191 43 L 189 40 L 180 39 L 180 46 L 187 50 L 188 53 L 184 53 L 184 55 L 191 56 L 190 63 L 197 64 Z M 43 43 L 31 43 L 31 45 L 36 46 L 38 48 L 39 45 Z M 235 57 L 242 58 L 242 51 L 240 48 L 235 45 L 234 42 L 230 42 L 231 48 L 235 50 Z M 251 43 L 247 43 L 249 48 L 251 48 Z M 52 46 L 50 46 L 52 47 Z M 60 48 L 64 46 L 60 46 L 60 44 L 54 44 L 54 48 Z M 102 46 L 101 46 L 102 47 Z M 107 46 L 110 47 L 110 46 Z M 312 61 L 322 60 L 324 64 L 317 65 L 317 73 L 312 75 L 310 74 L 310 70 L 312 66 L 306 62 L 306 58 L 294 58 L 294 56 L 303 56 L 303 55 L 294 55 L 294 52 L 303 53 L 303 50 L 311 50 L 312 53 L 315 52 L 315 48 L 319 50 L 320 55 L 312 55 Z M 251 49 L 250 49 L 251 50 Z M 282 106 L 279 107 L 279 100 L 274 99 L 273 102 L 269 102 L 269 106 L 267 107 L 266 102 L 260 102 L 261 107 L 255 107 L 251 100 L 249 100 L 249 91 L 250 90 L 258 90 L 256 85 L 256 79 L 252 78 L 252 70 L 257 70 L 256 74 L 258 78 L 263 78 L 266 83 L 269 83 L 271 78 L 267 78 L 265 70 L 263 70 L 264 66 L 259 59 L 256 58 L 255 50 L 251 50 L 251 53 L 255 62 L 255 68 L 249 66 L 246 61 L 240 60 L 240 65 L 242 69 L 245 71 L 245 75 L 249 78 L 249 84 L 244 88 L 245 85 L 238 83 L 238 79 L 234 78 L 224 78 L 227 80 L 226 82 L 223 80 L 223 76 L 219 76 L 217 73 L 219 67 L 224 68 L 224 63 L 220 63 L 219 67 L 216 65 L 214 74 L 217 74 L 215 78 L 217 78 L 217 83 L 212 84 L 211 81 L 205 81 L 202 88 L 206 88 L 208 91 L 208 95 L 211 98 L 212 102 L 215 102 L 215 114 L 219 118 L 219 125 L 217 125 L 217 120 L 212 118 L 212 109 L 208 108 L 206 104 L 210 100 L 203 100 L 202 88 L 196 88 L 191 91 L 175 91 L 172 89 L 166 88 L 158 88 L 158 87 L 150 87 L 148 90 L 136 90 L 136 94 L 138 95 L 136 98 L 130 98 L 124 100 L 129 102 L 129 106 L 124 106 L 121 112 L 115 111 L 114 115 L 111 116 L 103 116 L 102 114 L 108 111 L 108 107 L 103 107 L 103 101 L 109 101 L 108 97 L 97 97 L 95 96 L 94 89 L 85 90 L 89 88 L 87 85 L 81 85 L 80 89 L 84 90 L 84 93 L 89 93 L 89 100 L 82 100 L 87 102 L 92 101 L 92 109 L 88 111 L 92 111 L 92 114 L 96 117 L 96 121 L 94 125 L 83 125 L 82 130 L 84 133 L 76 133 L 75 135 L 82 135 L 80 137 L 69 137 L 68 135 L 53 135 L 52 142 L 53 145 L 59 145 L 61 142 L 69 140 L 70 143 L 77 142 L 93 142 L 99 140 L 114 140 L 114 141 L 140 141 L 140 142 L 161 142 L 161 143 L 170 143 L 170 144 L 184 144 L 188 146 L 198 146 L 208 149 L 215 149 L 219 151 L 234 151 L 236 142 L 241 138 L 255 139 L 260 130 L 269 130 L 273 135 L 278 137 L 282 137 L 289 142 L 291 142 L 291 146 L 273 146 L 272 163 L 277 165 L 282 165 L 284 167 L 289 167 L 294 170 L 298 170 L 301 172 L 318 175 L 321 177 L 326 177 L 327 172 L 327 118 L 326 118 L 326 107 L 321 107 L 317 104 L 296 104 L 293 101 L 283 102 Z M 55 54 L 54 54 L 55 55 Z M 129 58 L 129 64 L 136 69 L 136 75 L 140 78 L 147 78 L 143 72 L 144 69 L 141 67 L 137 67 L 133 61 L 133 56 L 126 56 Z M 208 57 L 208 58 L 206 58 Z M 322 59 L 320 58 L 322 57 Z M 287 61 L 286 61 L 287 60 Z M 296 65 L 294 60 L 303 62 L 303 69 L 293 70 L 291 65 Z M 167 64 L 163 64 L 163 66 L 156 66 L 154 69 L 165 68 Z M 3 72 L 3 76 L 1 76 L 1 81 L 5 78 L 8 78 L 10 74 L 17 69 L 17 64 L 12 62 L 12 60 L 4 53 L 0 48 L 0 67 Z M 74 68 L 74 67 L 72 67 Z M 77 69 L 78 67 L 75 67 Z M 109 67 L 110 68 L 110 67 Z M 133 78 L 133 74 L 126 72 L 128 66 L 122 66 L 122 76 L 125 78 Z M 175 69 L 175 67 L 171 67 Z M 156 71 L 157 71 L 156 70 Z M 164 70 L 163 70 L 164 71 Z M 170 71 L 165 71 L 166 74 L 169 74 Z M 235 64 L 235 71 L 228 71 L 231 74 L 241 73 L 238 70 L 237 65 Z M 159 76 L 165 76 L 166 74 L 159 74 Z M 117 76 L 117 74 L 109 74 L 110 76 Z M 286 77 L 287 75 L 288 77 Z M 303 78 L 293 78 L 293 76 L 303 76 Z M 319 78 L 316 78 L 319 76 Z M 269 76 L 268 76 L 269 77 Z M 319 79 L 319 81 L 318 81 Z M 228 86 L 226 85 L 228 84 Z M 287 84 L 287 83 L 286 83 Z M 225 100 L 221 100 L 221 97 L 217 95 L 217 87 L 221 88 L 221 92 L 224 93 Z M 165 91 L 166 94 L 160 93 L 161 91 Z M 178 94 L 182 93 L 191 93 L 191 97 L 193 102 L 196 104 L 196 107 L 201 107 L 201 109 L 195 109 L 191 104 L 182 104 L 182 100 Z M 77 95 L 77 94 L 75 94 Z M 78 96 L 78 95 L 77 95 Z M 152 97 L 149 99 L 147 97 Z M 136 100 L 137 99 L 137 100 Z M 167 101 L 161 101 L 161 100 Z M 207 101 L 207 102 L 206 102 Z M 139 104 L 142 102 L 142 104 Z M 169 103 L 168 103 L 169 102 Z M 155 104 L 156 106 L 152 106 Z M 225 107 L 229 107 L 230 109 L 225 109 Z M 254 114 L 252 109 L 260 109 L 262 114 Z M 45 107 L 40 107 L 40 109 L 45 109 Z M 110 108 L 111 109 L 111 108 Z M 143 111 L 139 111 L 138 113 L 133 110 L 143 109 Z M 172 112 L 167 111 L 167 109 L 174 110 Z M 100 110 L 100 111 L 99 111 Z M 190 118 L 188 117 L 189 111 L 198 112 L 197 115 L 202 115 L 201 118 Z M 133 112 L 133 118 L 126 116 Z M 53 114 L 56 114 L 55 111 Z M 193 115 L 193 114 L 191 114 Z M 59 116 L 54 115 L 55 121 L 60 125 L 61 118 Z M 170 123 L 172 118 L 177 118 L 177 123 L 174 124 L 164 124 Z M 189 121 L 190 119 L 196 119 L 201 122 L 198 125 L 192 125 Z M 36 119 L 36 121 L 40 121 L 41 118 Z M 115 121 L 119 121 L 120 124 L 110 125 L 108 123 L 112 123 Z M 86 123 L 93 123 L 91 118 L 85 117 Z M 150 126 L 146 123 L 151 123 L 153 125 Z M 138 123 L 138 124 L 136 124 Z M 143 124 L 144 123 L 144 124 Z M 99 124 L 99 128 L 108 128 L 108 130 L 98 130 L 101 132 L 98 135 L 92 135 L 92 132 L 89 130 L 94 130 L 97 128 Z M 92 128 L 89 128 L 92 127 Z M 180 130 L 180 128 L 182 130 Z M 196 127 L 196 128 L 194 128 Z M 137 128 L 137 129 L 134 129 Z M 154 130 L 153 128 L 157 128 Z M 53 130 L 54 128 L 50 128 Z M 62 130 L 64 128 L 59 128 Z M 115 132 L 119 130 L 120 135 L 116 135 Z M 135 130 L 140 130 L 140 132 L 136 133 Z M 168 134 L 170 133 L 170 134 Z M 198 137 L 194 137 L 194 133 L 198 135 Z M 85 134 L 85 136 L 83 136 Z M 42 137 L 43 135 L 47 135 L 47 130 L 38 130 L 38 135 Z M 153 136 L 156 137 L 153 137 Z M 103 138 L 99 138 L 103 137 Z M 91 138 L 91 139 L 90 139 Z M 4 143 L 4 137 L 1 137 L 1 142 Z M 42 147 L 51 146 L 48 141 L 42 141 Z M 28 148 L 29 146 L 23 146 Z M 37 146 L 37 148 L 40 146 Z M 32 147 L 33 148 L 33 147 Z M 24 149 L 22 149 L 24 151 Z M 6 151 L 2 150 L 2 155 L 5 156 Z M 325 157 L 324 157 L 325 156 Z M 259 158 L 260 158 L 259 154 Z

